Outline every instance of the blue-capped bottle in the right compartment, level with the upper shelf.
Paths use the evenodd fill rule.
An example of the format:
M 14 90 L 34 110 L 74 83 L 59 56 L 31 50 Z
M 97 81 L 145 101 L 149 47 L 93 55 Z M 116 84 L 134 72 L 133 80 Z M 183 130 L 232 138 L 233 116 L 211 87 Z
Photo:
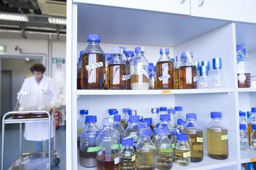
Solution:
M 238 88 L 249 88 L 251 87 L 251 73 L 244 47 L 236 46 L 236 59 Z

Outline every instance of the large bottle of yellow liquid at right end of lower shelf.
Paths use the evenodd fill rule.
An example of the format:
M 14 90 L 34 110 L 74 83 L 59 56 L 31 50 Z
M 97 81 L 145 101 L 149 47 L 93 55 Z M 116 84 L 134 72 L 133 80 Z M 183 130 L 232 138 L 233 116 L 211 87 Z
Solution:
M 228 130 L 221 117 L 221 112 L 211 112 L 212 121 L 206 130 L 207 152 L 213 159 L 228 158 Z

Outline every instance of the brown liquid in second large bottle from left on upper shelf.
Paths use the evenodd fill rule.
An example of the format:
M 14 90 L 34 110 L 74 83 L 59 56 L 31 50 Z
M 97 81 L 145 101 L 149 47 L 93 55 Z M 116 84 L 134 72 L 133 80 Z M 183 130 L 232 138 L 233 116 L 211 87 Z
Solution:
M 125 64 L 109 64 L 108 65 L 108 89 L 109 90 L 125 90 L 127 80 L 123 76 L 126 75 Z

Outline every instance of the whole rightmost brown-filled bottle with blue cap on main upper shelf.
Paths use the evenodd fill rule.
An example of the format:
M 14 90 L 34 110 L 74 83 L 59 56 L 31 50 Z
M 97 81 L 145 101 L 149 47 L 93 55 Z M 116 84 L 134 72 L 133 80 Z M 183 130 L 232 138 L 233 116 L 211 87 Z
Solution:
M 197 88 L 197 71 L 193 64 L 193 53 L 183 52 L 182 64 L 179 68 L 180 73 L 180 89 L 196 89 Z

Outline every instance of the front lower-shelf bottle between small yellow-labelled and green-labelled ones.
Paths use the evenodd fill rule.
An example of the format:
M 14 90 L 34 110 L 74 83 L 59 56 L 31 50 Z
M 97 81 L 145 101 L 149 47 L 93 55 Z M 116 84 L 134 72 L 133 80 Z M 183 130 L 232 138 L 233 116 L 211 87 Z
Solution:
M 156 148 L 150 136 L 151 130 L 140 130 L 140 138 L 136 145 L 137 170 L 154 170 L 156 168 Z

